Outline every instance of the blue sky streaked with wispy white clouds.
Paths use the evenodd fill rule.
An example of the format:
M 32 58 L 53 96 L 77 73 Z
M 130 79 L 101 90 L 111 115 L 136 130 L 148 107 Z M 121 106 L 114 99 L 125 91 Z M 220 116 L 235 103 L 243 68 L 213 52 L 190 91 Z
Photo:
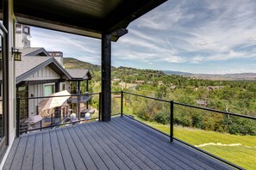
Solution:
M 256 73 L 255 0 L 169 0 L 112 43 L 112 65 L 191 73 Z M 32 46 L 100 64 L 101 41 L 32 27 Z

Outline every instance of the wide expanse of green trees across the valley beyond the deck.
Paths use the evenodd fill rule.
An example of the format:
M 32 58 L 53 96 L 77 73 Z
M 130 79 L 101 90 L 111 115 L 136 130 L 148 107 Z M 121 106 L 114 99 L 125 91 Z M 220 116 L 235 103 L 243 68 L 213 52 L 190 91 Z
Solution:
M 100 72 L 93 72 L 91 89 L 100 91 Z M 159 70 L 137 70 L 132 68 L 112 69 L 112 78 L 122 83 L 134 84 L 136 88 L 121 86 L 120 82 L 112 83 L 112 91 L 128 91 L 159 99 L 175 100 L 181 103 L 203 105 L 215 110 L 235 112 L 256 116 L 256 83 L 247 81 L 211 81 L 184 76 L 165 75 Z M 135 84 L 142 80 L 145 83 Z M 161 82 L 159 84 L 159 82 Z M 219 87 L 209 90 L 208 87 Z M 126 107 L 140 118 L 170 124 L 170 103 L 138 99 L 126 95 Z M 200 103 L 200 102 L 199 102 Z M 115 101 L 112 110 L 119 112 L 119 102 Z M 115 105 L 114 105 L 115 104 Z M 174 123 L 207 131 L 228 132 L 231 134 L 256 135 L 256 122 L 247 118 L 238 118 L 216 112 L 206 112 L 186 106 L 174 107 Z

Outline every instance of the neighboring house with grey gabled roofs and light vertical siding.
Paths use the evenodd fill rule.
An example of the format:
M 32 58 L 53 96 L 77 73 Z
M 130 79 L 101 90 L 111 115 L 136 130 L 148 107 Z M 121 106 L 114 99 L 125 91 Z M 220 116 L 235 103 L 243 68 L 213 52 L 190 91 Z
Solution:
M 89 70 L 66 70 L 62 66 L 62 52 L 54 52 L 58 57 L 50 56 L 44 48 L 21 49 L 22 61 L 16 62 L 16 94 L 21 98 L 48 96 L 55 92 L 68 90 L 71 94 L 80 93 L 80 82 L 91 80 Z M 2 75 L 2 70 L 0 70 Z M 2 78 L 1 78 L 2 79 Z M 78 90 L 72 91 L 71 84 Z M 75 93 L 73 93 L 75 92 Z M 36 115 L 38 100 L 21 101 L 21 118 Z

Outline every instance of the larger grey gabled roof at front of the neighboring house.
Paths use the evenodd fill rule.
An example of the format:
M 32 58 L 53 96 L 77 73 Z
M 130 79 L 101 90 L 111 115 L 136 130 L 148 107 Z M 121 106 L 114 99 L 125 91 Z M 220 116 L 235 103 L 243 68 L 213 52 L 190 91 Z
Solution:
M 72 79 L 72 76 L 53 57 L 23 56 L 22 61 L 16 62 L 16 83 L 24 81 L 28 76 L 46 66 L 53 69 L 59 76 Z

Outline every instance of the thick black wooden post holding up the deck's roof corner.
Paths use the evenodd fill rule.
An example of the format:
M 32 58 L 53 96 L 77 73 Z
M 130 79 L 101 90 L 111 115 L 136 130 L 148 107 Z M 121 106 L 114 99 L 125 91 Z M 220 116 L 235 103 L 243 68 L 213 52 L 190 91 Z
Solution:
M 102 120 L 111 119 L 111 34 L 102 35 Z

